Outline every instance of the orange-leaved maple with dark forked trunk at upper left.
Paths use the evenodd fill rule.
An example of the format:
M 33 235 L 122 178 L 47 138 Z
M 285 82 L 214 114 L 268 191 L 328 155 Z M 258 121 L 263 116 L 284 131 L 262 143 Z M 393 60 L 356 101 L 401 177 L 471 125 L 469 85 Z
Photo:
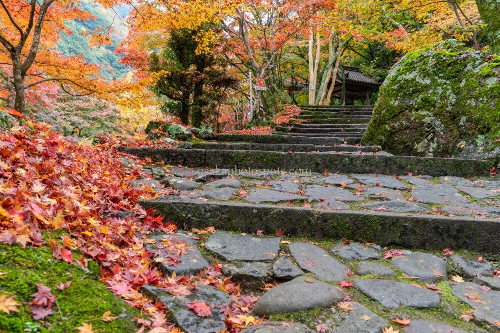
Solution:
M 120 3 L 96 1 L 105 7 Z M 66 57 L 57 51 L 56 42 L 62 31 L 70 32 L 67 22 L 88 20 L 92 14 L 81 9 L 77 0 L 43 0 L 0 2 L 0 99 L 23 113 L 27 92 L 60 89 L 70 95 L 108 94 L 120 89 L 118 82 L 105 82 L 98 77 L 99 67 L 83 60 L 81 55 Z M 95 44 L 105 41 L 102 31 L 89 32 Z M 58 84 L 59 88 L 54 85 Z M 40 88 L 40 85 L 42 86 Z M 36 90 L 38 89 L 38 90 Z

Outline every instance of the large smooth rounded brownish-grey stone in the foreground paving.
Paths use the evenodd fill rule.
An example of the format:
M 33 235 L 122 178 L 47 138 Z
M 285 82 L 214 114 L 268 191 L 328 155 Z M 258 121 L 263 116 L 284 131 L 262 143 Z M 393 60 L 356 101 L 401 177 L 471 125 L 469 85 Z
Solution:
M 254 314 L 266 316 L 330 307 L 343 299 L 335 287 L 315 279 L 298 277 L 268 290 L 253 307 Z

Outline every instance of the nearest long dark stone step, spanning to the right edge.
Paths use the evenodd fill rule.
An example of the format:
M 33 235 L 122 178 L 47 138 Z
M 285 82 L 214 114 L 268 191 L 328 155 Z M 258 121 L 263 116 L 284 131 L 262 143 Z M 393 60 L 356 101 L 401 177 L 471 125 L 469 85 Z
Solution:
M 201 201 L 164 196 L 143 200 L 144 208 L 191 228 L 217 226 L 220 230 L 254 233 L 277 229 L 293 236 L 362 239 L 378 245 L 423 249 L 467 249 L 498 253 L 500 223 L 492 219 L 409 215 L 389 212 L 351 210 L 315 210 L 307 207 L 251 204 L 242 202 Z M 438 232 L 436 232 L 438 231 Z

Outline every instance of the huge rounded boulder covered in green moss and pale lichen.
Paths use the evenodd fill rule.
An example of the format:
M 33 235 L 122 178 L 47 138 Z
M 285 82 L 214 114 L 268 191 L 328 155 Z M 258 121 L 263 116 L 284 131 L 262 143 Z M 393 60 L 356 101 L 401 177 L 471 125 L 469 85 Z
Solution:
M 397 155 L 500 157 L 500 57 L 451 39 L 406 54 L 380 88 L 363 144 Z

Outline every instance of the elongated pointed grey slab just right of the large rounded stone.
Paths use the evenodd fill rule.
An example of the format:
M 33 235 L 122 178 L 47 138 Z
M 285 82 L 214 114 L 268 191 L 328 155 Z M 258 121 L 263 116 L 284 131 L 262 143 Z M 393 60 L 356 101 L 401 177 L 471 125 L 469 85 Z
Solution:
M 441 303 L 441 298 L 437 293 L 404 282 L 360 279 L 354 282 L 354 286 L 388 308 L 399 308 L 401 305 L 413 308 L 435 308 Z

